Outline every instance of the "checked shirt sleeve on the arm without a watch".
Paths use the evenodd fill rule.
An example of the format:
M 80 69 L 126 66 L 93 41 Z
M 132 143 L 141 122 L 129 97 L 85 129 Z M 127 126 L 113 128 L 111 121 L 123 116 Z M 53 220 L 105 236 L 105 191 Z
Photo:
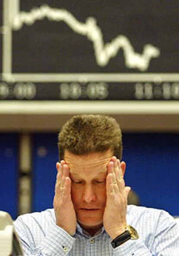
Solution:
M 32 222 L 33 225 L 33 222 Z M 21 216 L 14 222 L 14 228 L 20 242 L 22 244 L 22 249 L 24 250 L 25 256 L 67 256 L 75 242 L 75 238 L 70 236 L 64 229 L 51 223 L 51 227 L 48 233 L 43 235 L 42 232 L 35 234 L 36 230 L 29 227 L 29 223 L 24 222 Z M 39 223 L 36 223 L 39 226 Z M 40 243 L 36 244 L 34 236 L 43 237 Z

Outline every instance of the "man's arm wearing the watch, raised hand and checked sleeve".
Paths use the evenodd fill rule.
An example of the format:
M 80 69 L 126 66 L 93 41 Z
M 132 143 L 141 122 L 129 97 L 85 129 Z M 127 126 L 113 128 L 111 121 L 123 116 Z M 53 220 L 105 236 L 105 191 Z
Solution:
M 125 224 L 127 224 L 127 196 L 130 189 L 125 187 L 125 182 L 123 180 L 124 170 L 122 170 L 121 163 L 116 157 L 112 157 L 107 169 L 107 200 L 103 223 L 106 232 L 113 240 L 125 231 Z M 139 239 L 137 240 L 128 240 L 115 249 L 112 248 L 115 255 L 179 256 L 179 227 L 168 213 L 164 213 L 165 214 L 160 215 L 160 218 L 155 224 L 156 232 L 153 234 L 152 245 L 144 243 L 144 237 L 139 236 Z M 147 236 L 149 234 L 146 232 L 142 235 Z

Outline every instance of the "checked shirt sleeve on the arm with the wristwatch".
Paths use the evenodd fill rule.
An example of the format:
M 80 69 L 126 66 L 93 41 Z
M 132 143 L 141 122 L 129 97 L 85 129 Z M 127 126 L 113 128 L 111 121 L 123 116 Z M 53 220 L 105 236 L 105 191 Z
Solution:
M 169 213 L 161 211 L 152 245 L 139 238 L 128 240 L 113 250 L 115 256 L 179 256 L 179 226 Z

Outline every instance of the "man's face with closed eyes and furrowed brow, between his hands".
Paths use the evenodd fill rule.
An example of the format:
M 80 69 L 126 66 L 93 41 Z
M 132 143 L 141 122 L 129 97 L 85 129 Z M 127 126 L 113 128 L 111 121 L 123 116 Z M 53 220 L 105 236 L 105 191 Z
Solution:
M 105 179 L 112 151 L 77 156 L 65 151 L 70 167 L 71 196 L 77 221 L 84 229 L 98 229 L 106 203 Z

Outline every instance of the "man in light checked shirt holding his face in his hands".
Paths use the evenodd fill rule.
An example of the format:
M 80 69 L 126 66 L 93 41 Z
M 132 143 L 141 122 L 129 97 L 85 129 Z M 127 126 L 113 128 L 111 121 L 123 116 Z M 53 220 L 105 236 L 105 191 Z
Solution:
M 14 223 L 26 255 L 179 256 L 172 216 L 127 206 L 121 130 L 113 118 L 74 116 L 58 148 L 54 209 Z

